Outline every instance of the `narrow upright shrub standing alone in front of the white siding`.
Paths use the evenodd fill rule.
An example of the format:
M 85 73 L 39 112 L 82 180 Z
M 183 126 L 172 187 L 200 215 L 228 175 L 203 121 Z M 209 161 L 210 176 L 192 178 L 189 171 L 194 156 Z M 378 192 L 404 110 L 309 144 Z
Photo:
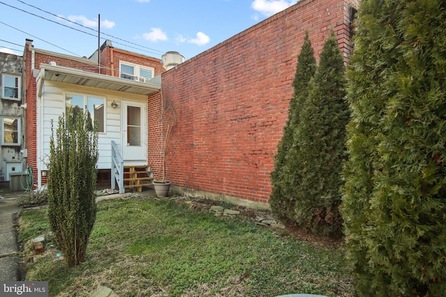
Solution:
M 89 116 L 68 111 L 50 141 L 48 215 L 54 239 L 67 266 L 85 261 L 96 218 L 95 183 L 98 128 Z

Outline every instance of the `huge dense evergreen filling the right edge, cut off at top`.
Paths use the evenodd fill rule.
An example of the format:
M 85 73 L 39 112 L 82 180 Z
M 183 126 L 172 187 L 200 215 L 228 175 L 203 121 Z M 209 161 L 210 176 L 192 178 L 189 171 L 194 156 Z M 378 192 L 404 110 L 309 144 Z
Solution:
M 362 296 L 446 292 L 446 1 L 362 0 L 342 214 Z

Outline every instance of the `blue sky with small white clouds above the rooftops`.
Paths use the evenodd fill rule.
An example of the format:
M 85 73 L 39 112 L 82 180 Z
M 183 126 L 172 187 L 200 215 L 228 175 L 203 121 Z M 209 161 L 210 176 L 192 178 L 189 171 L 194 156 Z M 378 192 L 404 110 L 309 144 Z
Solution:
M 0 0 L 0 51 L 22 55 L 34 47 L 90 56 L 101 41 L 161 58 L 185 59 L 231 38 L 298 0 Z M 76 23 L 76 24 L 74 24 Z

